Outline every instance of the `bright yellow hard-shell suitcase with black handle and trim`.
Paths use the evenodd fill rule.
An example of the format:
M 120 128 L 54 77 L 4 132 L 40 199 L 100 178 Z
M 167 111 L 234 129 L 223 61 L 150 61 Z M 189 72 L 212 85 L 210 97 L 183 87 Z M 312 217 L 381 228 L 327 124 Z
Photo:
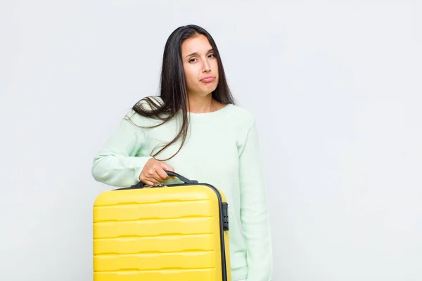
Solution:
M 207 183 L 102 192 L 94 202 L 94 281 L 231 281 L 228 205 Z

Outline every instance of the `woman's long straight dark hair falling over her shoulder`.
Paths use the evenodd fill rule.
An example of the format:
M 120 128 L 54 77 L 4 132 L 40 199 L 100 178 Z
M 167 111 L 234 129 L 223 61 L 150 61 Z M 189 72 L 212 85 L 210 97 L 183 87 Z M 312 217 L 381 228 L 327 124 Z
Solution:
M 214 49 L 215 57 L 218 62 L 218 76 L 219 81 L 215 91 L 212 91 L 212 98 L 224 104 L 236 104 L 234 97 L 231 95 L 229 85 L 226 81 L 226 74 L 224 73 L 224 67 L 222 60 L 219 55 L 217 45 L 211 35 L 202 27 L 198 25 L 185 25 L 178 27 L 170 37 L 167 39 L 165 44 L 163 58 L 162 58 L 162 69 L 160 76 L 160 97 L 162 98 L 162 104 L 155 103 L 155 101 L 149 97 L 141 99 L 136 103 L 132 109 L 139 115 L 144 117 L 150 117 L 153 119 L 159 119 L 162 123 L 148 128 L 155 128 L 165 124 L 172 119 L 179 110 L 182 112 L 182 126 L 177 136 L 170 142 L 167 143 L 157 153 L 152 155 L 157 156 L 168 148 L 172 143 L 175 143 L 179 138 L 182 139 L 179 150 L 172 156 L 174 157 L 181 150 L 181 147 L 186 141 L 186 135 L 188 131 L 188 114 L 187 114 L 187 99 L 188 94 L 186 91 L 186 79 L 184 73 L 183 62 L 181 59 L 181 44 L 191 37 L 196 37 L 200 34 L 205 35 Z M 149 106 L 148 109 L 143 107 L 142 102 L 146 102 Z M 145 128 L 145 127 L 144 127 Z M 162 161 L 172 159 L 172 157 L 163 159 Z

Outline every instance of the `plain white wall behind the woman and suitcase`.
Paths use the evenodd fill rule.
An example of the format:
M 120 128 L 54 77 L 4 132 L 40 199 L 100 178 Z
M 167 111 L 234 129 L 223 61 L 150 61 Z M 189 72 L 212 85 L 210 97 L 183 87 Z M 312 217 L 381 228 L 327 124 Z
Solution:
M 295 3 L 295 4 L 293 4 Z M 0 280 L 91 280 L 91 161 L 205 27 L 257 117 L 274 280 L 422 280 L 421 1 L 1 1 Z M 253 281 L 253 280 L 250 280 Z

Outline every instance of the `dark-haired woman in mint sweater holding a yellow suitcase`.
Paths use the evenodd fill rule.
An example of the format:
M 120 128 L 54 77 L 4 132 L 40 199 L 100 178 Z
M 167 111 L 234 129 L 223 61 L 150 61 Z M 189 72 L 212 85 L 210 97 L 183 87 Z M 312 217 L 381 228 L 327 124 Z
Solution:
M 211 183 L 226 195 L 231 280 L 271 280 L 255 118 L 235 105 L 215 41 L 196 25 L 179 27 L 167 39 L 160 96 L 132 107 L 94 158 L 92 175 L 120 187 L 179 183 L 165 170 Z

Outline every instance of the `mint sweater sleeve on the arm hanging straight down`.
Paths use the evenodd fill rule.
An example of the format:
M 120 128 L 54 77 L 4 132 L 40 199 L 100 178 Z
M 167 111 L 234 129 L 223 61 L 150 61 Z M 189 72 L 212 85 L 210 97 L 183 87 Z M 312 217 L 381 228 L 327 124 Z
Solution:
M 239 156 L 241 223 L 247 248 L 248 281 L 272 275 L 271 231 L 255 119 Z

